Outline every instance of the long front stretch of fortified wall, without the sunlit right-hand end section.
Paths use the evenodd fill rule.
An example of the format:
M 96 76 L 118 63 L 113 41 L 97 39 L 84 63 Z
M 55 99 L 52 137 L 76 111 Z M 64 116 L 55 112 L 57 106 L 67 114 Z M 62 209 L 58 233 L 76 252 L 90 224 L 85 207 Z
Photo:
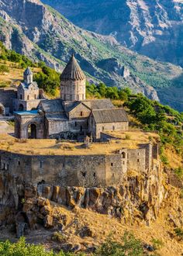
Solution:
M 31 156 L 1 152 L 1 170 L 21 175 L 26 182 L 81 187 L 123 183 L 126 159 L 122 154 Z

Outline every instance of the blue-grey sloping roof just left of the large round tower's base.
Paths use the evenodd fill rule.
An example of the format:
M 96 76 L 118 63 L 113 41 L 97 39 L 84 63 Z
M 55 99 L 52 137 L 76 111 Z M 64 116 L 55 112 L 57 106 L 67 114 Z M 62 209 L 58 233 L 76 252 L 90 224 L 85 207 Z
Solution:
M 61 104 L 61 99 L 46 99 L 41 101 L 43 111 L 48 112 L 64 112 L 64 108 Z

